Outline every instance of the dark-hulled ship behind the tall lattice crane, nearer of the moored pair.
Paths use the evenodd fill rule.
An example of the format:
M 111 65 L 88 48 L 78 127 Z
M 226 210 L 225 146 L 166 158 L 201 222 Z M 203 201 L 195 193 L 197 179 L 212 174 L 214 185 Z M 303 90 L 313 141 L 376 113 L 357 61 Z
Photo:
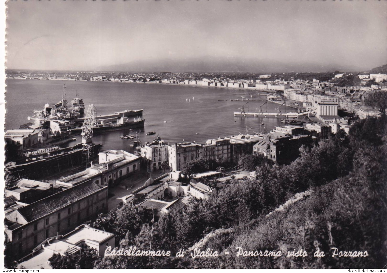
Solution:
M 93 133 L 100 133 L 106 131 L 118 131 L 123 129 L 130 128 L 142 128 L 144 127 L 145 119 L 137 118 L 130 120 L 129 118 L 121 117 L 116 119 L 102 119 L 97 122 L 96 126 L 93 128 Z M 82 131 L 82 128 L 73 128 L 71 129 L 73 133 L 77 131 Z

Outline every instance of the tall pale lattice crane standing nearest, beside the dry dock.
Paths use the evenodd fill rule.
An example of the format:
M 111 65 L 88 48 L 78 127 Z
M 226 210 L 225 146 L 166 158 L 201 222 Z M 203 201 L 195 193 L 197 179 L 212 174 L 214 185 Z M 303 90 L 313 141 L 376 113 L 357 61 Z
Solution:
M 82 157 L 87 159 L 87 161 L 93 155 L 94 143 L 92 142 L 92 137 L 93 129 L 96 127 L 95 110 L 94 104 L 90 104 L 82 125 Z

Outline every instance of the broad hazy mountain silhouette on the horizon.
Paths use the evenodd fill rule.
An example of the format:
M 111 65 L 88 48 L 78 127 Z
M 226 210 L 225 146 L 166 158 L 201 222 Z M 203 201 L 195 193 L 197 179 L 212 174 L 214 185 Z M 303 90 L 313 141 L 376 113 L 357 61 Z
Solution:
M 117 72 L 334 72 L 361 71 L 364 68 L 343 65 L 322 65 L 319 63 L 285 63 L 278 61 L 256 61 L 241 58 L 187 58 L 182 60 L 139 60 L 119 65 L 99 67 L 99 71 Z

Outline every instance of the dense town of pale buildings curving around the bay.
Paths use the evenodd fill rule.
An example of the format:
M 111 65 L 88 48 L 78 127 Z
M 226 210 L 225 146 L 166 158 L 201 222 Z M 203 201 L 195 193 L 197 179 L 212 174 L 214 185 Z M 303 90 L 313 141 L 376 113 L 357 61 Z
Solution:
M 83 132 L 87 133 L 86 121 L 82 143 L 65 148 L 60 145 L 42 148 L 43 140 L 47 142 L 58 131 L 64 139 L 65 132 L 60 128 L 54 132 L 54 127 L 38 122 L 40 127 L 7 130 L 8 153 L 14 155 L 7 157 L 5 165 L 7 263 L 17 268 L 50 268 L 60 263 L 57 254 L 70 256 L 86 246 L 95 249 L 102 259 L 108 247 L 124 246 L 125 240 L 127 246 L 139 242 L 141 232 L 149 232 L 140 224 L 148 223 L 149 228 L 149 223 L 168 215 L 189 213 L 187 208 L 197 200 L 213 202 L 236 187 L 230 185 L 262 181 L 265 166 L 277 171 L 295 167 L 294 164 L 318 154 L 317 149 L 330 142 L 336 143 L 332 144 L 335 150 L 345 153 L 343 147 L 349 149 L 356 126 L 385 118 L 385 107 L 380 106 L 378 98 L 382 101 L 386 98 L 387 74 L 328 74 L 7 71 L 7 78 L 15 79 L 199 85 L 240 89 L 245 93 L 258 90 L 265 92 L 267 101 L 298 109 L 294 113 L 265 113 L 261 108 L 249 113 L 242 107 L 235 116 L 283 117 L 284 125 L 270 132 L 257 134 L 246 130 L 243 134 L 212 138 L 204 143 L 166 143 L 156 137 L 152 142 L 138 145 L 135 153 L 102 151 L 101 145 L 92 143 L 92 130 L 89 138 L 83 138 Z M 251 99 L 242 97 L 240 101 L 248 103 Z M 300 189 L 288 190 L 288 194 L 301 193 Z M 306 193 L 308 187 L 302 189 Z M 276 198 L 276 205 L 264 208 L 274 210 L 286 201 L 284 196 Z M 106 224 L 115 221 L 113 215 L 118 220 L 123 217 L 127 223 L 135 222 L 136 217 L 143 219 L 119 233 Z M 152 217 L 151 222 L 144 215 Z M 208 229 L 207 233 L 210 231 L 213 230 Z M 203 235 L 205 231 L 199 232 L 197 239 Z M 105 259 L 99 266 L 103 267 Z

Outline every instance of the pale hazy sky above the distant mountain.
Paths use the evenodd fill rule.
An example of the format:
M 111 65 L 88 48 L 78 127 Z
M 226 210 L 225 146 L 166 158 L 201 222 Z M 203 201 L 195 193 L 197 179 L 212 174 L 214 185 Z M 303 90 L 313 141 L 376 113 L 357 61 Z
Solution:
M 7 2 L 7 67 L 96 69 L 227 56 L 373 68 L 387 63 L 387 1 Z

